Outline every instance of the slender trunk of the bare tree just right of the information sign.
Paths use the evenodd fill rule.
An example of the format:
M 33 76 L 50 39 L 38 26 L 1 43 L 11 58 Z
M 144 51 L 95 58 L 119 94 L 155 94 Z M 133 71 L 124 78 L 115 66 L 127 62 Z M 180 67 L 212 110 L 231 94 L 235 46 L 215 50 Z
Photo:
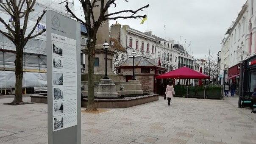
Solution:
M 89 44 L 88 47 L 88 101 L 86 111 L 97 111 L 94 102 L 94 62 L 95 62 L 95 43 Z

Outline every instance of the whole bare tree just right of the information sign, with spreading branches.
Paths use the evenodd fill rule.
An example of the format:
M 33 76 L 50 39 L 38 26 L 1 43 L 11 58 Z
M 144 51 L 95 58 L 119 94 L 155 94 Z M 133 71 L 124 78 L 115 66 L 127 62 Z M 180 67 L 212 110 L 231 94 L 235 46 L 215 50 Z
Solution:
M 86 111 L 97 111 L 94 103 L 94 61 L 95 61 L 95 45 L 97 41 L 97 31 L 100 25 L 107 20 L 116 20 L 116 19 L 137 19 L 137 18 L 145 18 L 146 15 L 136 15 L 137 12 L 143 11 L 143 9 L 148 8 L 149 5 L 143 6 L 142 8 L 133 10 L 123 10 L 117 11 L 111 14 L 106 14 L 110 6 L 116 7 L 116 0 L 79 0 L 81 2 L 83 8 L 84 19 L 79 19 L 69 8 L 68 2 L 66 2 L 67 11 L 74 17 L 78 22 L 81 22 L 85 25 L 88 32 L 88 102 Z M 124 2 L 128 2 L 128 0 L 124 0 Z M 95 14 L 93 12 L 93 8 L 100 7 L 100 14 L 98 19 L 95 19 Z M 123 16 L 123 14 L 128 13 L 129 16 Z

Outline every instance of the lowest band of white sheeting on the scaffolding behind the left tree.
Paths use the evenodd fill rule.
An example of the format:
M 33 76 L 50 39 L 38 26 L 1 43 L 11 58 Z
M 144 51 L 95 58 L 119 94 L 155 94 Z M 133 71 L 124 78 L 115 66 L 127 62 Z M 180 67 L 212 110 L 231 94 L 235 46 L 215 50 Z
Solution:
M 28 87 L 46 87 L 47 74 L 39 72 L 23 73 L 23 88 Z M 15 72 L 0 71 L 0 89 L 15 87 Z

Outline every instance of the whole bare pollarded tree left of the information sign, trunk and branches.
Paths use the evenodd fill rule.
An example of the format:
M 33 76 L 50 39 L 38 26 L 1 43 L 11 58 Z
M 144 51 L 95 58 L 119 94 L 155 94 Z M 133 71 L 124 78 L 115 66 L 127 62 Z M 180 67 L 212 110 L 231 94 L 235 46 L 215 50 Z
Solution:
M 33 35 L 36 26 L 39 24 L 40 20 L 45 14 L 42 12 L 41 16 L 37 18 L 36 24 L 33 26 L 31 31 L 27 31 L 28 18 L 31 11 L 34 11 L 33 6 L 36 0 L 0 0 L 0 7 L 6 11 L 11 16 L 13 20 L 12 24 L 5 22 L 3 18 L 0 17 L 0 22 L 5 25 L 8 32 L 0 30 L 4 36 L 11 40 L 16 47 L 15 54 L 15 97 L 13 105 L 23 104 L 22 101 L 22 79 L 23 79 L 23 50 L 29 39 L 33 39 L 36 36 L 41 35 L 45 32 L 45 29 Z M 24 19 L 24 20 L 22 20 Z M 23 23 L 22 23 L 22 22 Z M 28 35 L 25 36 L 25 33 Z

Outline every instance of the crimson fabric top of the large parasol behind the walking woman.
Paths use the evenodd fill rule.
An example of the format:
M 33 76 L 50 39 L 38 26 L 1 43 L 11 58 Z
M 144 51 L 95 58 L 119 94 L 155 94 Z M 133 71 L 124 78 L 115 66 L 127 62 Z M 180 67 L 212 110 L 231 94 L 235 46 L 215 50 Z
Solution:
M 209 79 L 210 77 L 207 75 L 204 75 L 200 72 L 197 72 L 193 69 L 190 69 L 186 66 L 175 69 L 171 72 L 167 72 L 163 75 L 159 75 L 156 77 L 157 79 L 161 78 L 177 78 L 177 79 Z

